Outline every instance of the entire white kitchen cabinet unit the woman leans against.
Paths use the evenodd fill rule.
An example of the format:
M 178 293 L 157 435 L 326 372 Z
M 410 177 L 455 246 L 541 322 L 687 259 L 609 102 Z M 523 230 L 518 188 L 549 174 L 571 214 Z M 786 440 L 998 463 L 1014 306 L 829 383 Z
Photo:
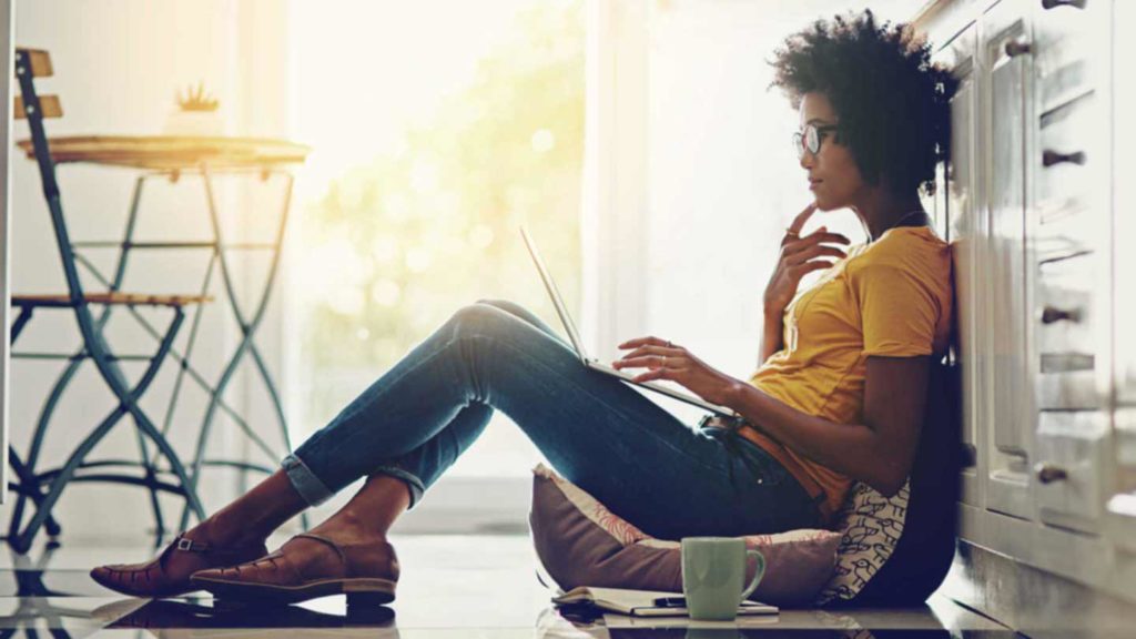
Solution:
M 1133 598 L 1136 2 L 942 0 L 964 542 Z M 962 553 L 960 562 L 967 562 Z M 972 573 L 966 566 L 963 573 Z

